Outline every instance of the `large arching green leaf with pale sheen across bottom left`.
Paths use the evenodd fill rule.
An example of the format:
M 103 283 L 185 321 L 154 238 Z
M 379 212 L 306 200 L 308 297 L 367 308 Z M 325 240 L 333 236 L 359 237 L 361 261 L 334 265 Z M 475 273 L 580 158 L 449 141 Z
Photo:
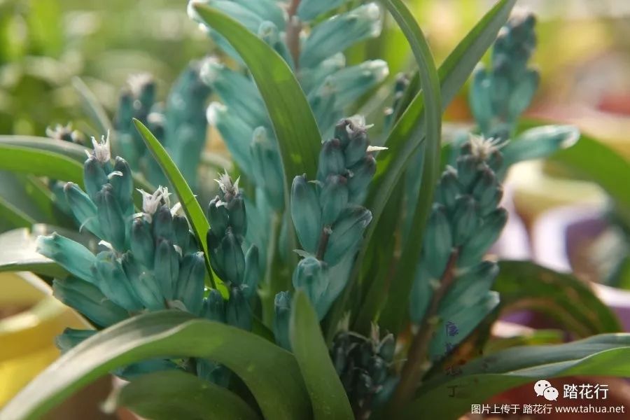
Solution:
M 237 374 L 265 419 L 308 419 L 311 406 L 300 367 L 267 340 L 183 311 L 130 318 L 78 344 L 31 381 L 3 409 L 7 419 L 38 419 L 118 367 L 156 357 L 209 358 Z

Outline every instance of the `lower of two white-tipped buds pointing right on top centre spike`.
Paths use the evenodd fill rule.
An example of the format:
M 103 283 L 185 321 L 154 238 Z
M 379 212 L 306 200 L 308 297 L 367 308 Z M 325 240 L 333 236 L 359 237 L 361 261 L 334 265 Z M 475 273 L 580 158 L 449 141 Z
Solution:
M 363 62 L 346 67 L 331 77 L 332 83 L 339 86 L 337 106 L 345 108 L 377 86 L 389 75 L 387 63 L 381 59 Z

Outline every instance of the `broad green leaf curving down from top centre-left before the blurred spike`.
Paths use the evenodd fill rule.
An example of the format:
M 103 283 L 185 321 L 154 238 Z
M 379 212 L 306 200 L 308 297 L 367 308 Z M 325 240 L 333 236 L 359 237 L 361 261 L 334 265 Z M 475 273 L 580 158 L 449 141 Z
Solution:
M 300 84 L 282 57 L 228 15 L 204 4 L 193 6 L 207 24 L 239 53 L 253 77 L 272 122 L 284 167 L 286 191 L 297 175 L 315 178 L 321 136 Z

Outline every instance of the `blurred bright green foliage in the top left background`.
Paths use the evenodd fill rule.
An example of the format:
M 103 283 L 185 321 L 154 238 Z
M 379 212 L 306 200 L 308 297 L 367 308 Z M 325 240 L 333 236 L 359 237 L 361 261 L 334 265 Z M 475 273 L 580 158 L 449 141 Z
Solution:
M 210 47 L 185 0 L 1 0 L 0 133 L 43 135 L 78 122 L 73 76 L 108 111 L 134 73 L 152 73 L 163 96 Z

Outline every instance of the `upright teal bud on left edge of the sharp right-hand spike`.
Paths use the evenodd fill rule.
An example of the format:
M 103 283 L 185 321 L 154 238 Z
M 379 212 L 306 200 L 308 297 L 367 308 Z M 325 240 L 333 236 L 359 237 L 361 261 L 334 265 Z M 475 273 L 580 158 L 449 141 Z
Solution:
M 433 204 L 424 237 L 423 262 L 428 272 L 440 277 L 451 256 L 453 239 L 446 209 L 442 204 Z

